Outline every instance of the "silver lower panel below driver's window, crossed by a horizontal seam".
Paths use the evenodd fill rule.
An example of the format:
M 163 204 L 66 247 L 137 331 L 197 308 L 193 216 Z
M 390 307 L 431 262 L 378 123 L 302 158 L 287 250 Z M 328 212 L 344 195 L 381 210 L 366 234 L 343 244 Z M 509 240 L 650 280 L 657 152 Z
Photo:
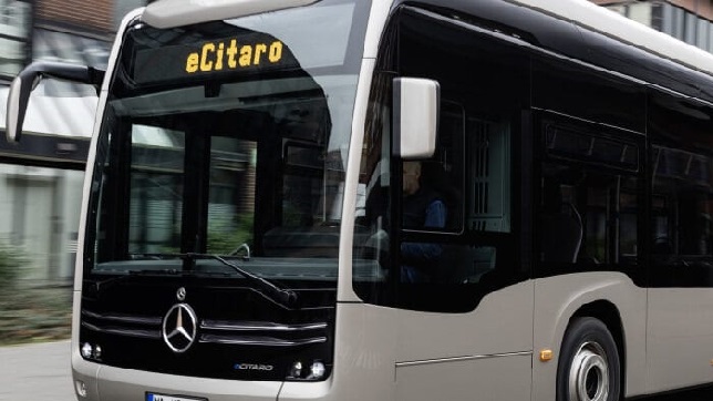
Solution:
M 395 400 L 529 399 L 533 291 L 504 288 L 469 313 L 399 312 Z

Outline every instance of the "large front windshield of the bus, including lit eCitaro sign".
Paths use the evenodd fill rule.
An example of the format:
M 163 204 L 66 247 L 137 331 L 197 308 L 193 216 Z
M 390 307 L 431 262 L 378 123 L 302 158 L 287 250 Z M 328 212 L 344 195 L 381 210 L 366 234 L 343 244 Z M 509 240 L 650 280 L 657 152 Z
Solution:
M 125 33 L 93 172 L 85 268 L 337 276 L 368 4 Z M 242 275 L 245 276 L 245 275 Z

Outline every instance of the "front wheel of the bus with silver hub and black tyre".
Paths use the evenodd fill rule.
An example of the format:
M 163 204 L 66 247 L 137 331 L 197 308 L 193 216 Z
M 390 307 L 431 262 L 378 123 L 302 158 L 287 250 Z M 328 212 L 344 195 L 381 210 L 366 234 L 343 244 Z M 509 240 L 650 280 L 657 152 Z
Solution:
M 557 366 L 557 401 L 617 401 L 620 395 L 617 345 L 599 319 L 572 321 Z

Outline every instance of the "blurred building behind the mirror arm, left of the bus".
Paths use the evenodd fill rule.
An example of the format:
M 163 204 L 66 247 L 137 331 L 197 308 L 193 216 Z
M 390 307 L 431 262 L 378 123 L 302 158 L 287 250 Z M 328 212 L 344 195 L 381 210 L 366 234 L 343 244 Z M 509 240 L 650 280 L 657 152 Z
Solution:
M 12 78 L 33 60 L 105 68 L 124 14 L 145 0 L 0 0 L 0 243 L 22 250 L 23 284 L 70 284 L 92 88 L 46 80 L 33 92 L 20 144 L 4 137 Z

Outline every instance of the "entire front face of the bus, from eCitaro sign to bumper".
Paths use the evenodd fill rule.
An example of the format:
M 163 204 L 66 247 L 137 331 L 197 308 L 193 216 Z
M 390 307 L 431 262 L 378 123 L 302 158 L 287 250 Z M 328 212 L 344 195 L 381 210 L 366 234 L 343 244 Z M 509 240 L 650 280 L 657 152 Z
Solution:
M 275 400 L 324 382 L 370 4 L 188 24 L 158 6 L 127 21 L 90 157 L 79 399 Z

